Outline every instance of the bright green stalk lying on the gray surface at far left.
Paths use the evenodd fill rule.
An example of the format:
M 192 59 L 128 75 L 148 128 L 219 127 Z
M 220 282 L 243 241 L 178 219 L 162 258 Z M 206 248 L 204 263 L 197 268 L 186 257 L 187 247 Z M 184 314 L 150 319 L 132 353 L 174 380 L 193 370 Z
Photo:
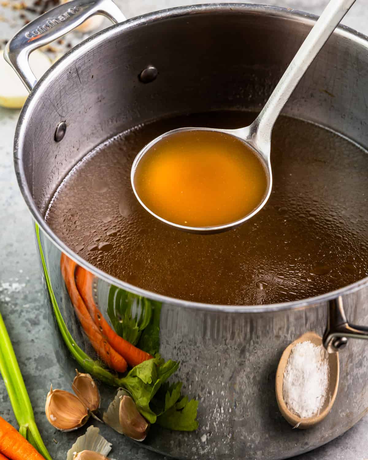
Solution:
M 52 460 L 36 426 L 32 405 L 1 313 L 0 337 L 0 372 L 19 424 L 19 432 L 46 460 Z

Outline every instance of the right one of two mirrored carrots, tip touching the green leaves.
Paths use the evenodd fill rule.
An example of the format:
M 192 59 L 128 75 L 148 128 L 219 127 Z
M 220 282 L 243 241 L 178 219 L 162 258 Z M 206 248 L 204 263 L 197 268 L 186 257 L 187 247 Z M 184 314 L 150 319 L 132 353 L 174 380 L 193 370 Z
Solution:
M 93 299 L 93 275 L 91 272 L 78 266 L 75 270 L 75 283 L 93 321 L 97 324 L 99 330 L 104 337 L 106 337 L 109 344 L 126 359 L 130 366 L 137 366 L 137 364 L 153 358 L 153 356 L 149 353 L 140 350 L 127 340 L 123 339 L 120 335 L 116 334 L 116 332 L 110 327 Z

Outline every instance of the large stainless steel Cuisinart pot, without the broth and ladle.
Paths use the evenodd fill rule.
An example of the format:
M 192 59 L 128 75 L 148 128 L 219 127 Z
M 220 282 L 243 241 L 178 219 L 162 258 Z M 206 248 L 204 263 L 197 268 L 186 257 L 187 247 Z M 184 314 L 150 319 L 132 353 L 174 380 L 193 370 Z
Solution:
M 200 399 L 199 428 L 185 433 L 155 427 L 144 446 L 184 459 L 271 460 L 327 443 L 368 410 L 366 344 L 350 340 L 339 353 L 334 407 L 310 430 L 292 430 L 279 413 L 276 367 L 284 348 L 307 330 L 325 333 L 329 351 L 345 345 L 347 336 L 367 338 L 367 328 L 346 320 L 368 324 L 367 278 L 336 292 L 284 304 L 231 307 L 184 302 L 97 270 L 66 247 L 43 219 L 65 175 L 104 139 L 162 116 L 259 109 L 316 17 L 241 4 L 156 12 L 84 41 L 36 84 L 27 63 L 29 52 L 96 12 L 123 21 L 110 0 L 75 0 L 28 24 L 7 49 L 8 59 L 31 90 L 15 135 L 15 167 L 36 222 L 58 361 L 72 372 L 72 355 L 79 366 L 96 371 L 83 354 L 96 356 L 81 332 L 60 273 L 63 252 L 92 272 L 93 296 L 103 314 L 111 286 L 161 303 L 160 352 L 181 362 L 179 378 L 185 392 Z M 367 37 L 339 27 L 284 113 L 333 129 L 367 148 L 367 100 Z M 75 345 L 70 345 L 70 338 Z M 104 373 L 98 376 L 108 381 Z M 113 393 L 107 387 L 105 391 Z

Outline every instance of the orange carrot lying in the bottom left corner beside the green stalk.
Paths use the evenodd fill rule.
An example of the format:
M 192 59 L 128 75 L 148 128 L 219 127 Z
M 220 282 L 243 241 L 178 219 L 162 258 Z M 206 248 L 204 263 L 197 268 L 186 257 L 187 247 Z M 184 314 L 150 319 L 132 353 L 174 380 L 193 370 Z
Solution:
M 0 459 L 45 460 L 13 426 L 0 417 Z

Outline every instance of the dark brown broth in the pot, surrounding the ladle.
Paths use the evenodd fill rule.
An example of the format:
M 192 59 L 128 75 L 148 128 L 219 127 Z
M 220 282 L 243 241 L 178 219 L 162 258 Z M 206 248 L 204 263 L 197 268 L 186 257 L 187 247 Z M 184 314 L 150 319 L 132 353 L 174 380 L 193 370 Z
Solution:
M 270 199 L 241 227 L 218 235 L 187 234 L 140 206 L 130 168 L 146 143 L 178 127 L 236 128 L 253 119 L 246 112 L 214 112 L 122 133 L 73 168 L 46 221 L 98 268 L 191 301 L 264 305 L 326 293 L 367 276 L 367 152 L 303 121 L 277 121 Z

